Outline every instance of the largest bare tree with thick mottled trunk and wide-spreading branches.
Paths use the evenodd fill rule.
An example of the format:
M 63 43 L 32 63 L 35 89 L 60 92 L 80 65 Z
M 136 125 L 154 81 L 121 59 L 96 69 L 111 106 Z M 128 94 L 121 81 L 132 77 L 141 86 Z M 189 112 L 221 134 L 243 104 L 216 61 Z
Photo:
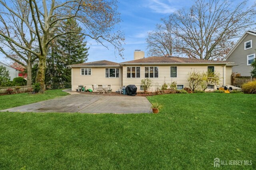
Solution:
M 122 55 L 122 41 L 124 38 L 120 31 L 115 31 L 116 24 L 120 22 L 116 0 L 23 1 L 29 5 L 33 21 L 31 24 L 20 15 L 18 12 L 20 9 L 11 8 L 8 5 L 10 2 L 0 0 L 0 8 L 4 9 L 6 16 L 12 14 L 15 16 L 15 20 L 23 21 L 26 24 L 26 28 L 32 35 L 36 36 L 38 48 L 28 48 L 2 32 L 0 32 L 0 36 L 38 58 L 36 82 L 40 83 L 42 91 L 44 91 L 46 56 L 49 44 L 52 40 L 62 38 L 65 34 L 82 34 L 102 45 L 104 45 L 104 42 L 108 42 L 108 44 L 114 45 L 119 55 Z M 76 19 L 83 30 L 78 32 L 68 28 L 68 31 L 60 32 L 59 30 L 62 29 L 58 28 L 64 27 L 62 21 L 69 18 Z M 106 45 L 104 46 L 107 47 Z

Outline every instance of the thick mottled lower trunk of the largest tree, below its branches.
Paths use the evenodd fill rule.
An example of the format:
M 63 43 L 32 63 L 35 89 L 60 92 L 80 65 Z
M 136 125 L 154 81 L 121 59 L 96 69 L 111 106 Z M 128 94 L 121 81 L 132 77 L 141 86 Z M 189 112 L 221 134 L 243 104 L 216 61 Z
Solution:
M 41 87 L 41 93 L 44 92 L 44 80 L 45 80 L 45 71 L 46 71 L 46 56 L 40 55 L 38 61 L 38 71 L 36 75 L 36 83 L 40 84 Z

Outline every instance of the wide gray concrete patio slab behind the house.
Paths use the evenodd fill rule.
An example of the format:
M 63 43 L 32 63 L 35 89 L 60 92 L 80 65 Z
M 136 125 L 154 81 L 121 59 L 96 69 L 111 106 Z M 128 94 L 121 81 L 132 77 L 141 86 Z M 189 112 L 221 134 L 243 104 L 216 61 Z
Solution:
M 146 97 L 72 95 L 5 109 L 9 112 L 152 113 Z

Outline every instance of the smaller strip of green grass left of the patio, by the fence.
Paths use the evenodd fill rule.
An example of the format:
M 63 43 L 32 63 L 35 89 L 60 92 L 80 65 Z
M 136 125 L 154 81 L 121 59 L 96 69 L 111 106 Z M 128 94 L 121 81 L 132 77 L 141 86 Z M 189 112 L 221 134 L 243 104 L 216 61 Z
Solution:
M 62 91 L 63 89 L 58 90 L 47 90 L 43 94 L 35 94 L 31 93 L 19 93 L 14 95 L 3 95 L 0 96 L 0 110 L 27 105 L 30 103 L 36 103 L 38 101 L 44 101 L 48 99 L 53 99 L 58 96 L 66 96 L 69 95 L 66 92 Z

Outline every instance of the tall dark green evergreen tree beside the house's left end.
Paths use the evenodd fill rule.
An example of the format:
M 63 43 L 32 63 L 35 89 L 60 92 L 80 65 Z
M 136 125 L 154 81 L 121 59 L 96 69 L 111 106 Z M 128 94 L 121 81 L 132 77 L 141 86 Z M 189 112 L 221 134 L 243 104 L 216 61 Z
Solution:
M 64 32 L 68 32 L 70 28 L 77 32 L 82 30 L 73 18 L 63 22 L 61 27 Z M 81 34 L 65 34 L 52 41 L 47 58 L 46 84 L 71 82 L 71 69 L 66 65 L 87 61 L 88 49 L 85 37 Z

